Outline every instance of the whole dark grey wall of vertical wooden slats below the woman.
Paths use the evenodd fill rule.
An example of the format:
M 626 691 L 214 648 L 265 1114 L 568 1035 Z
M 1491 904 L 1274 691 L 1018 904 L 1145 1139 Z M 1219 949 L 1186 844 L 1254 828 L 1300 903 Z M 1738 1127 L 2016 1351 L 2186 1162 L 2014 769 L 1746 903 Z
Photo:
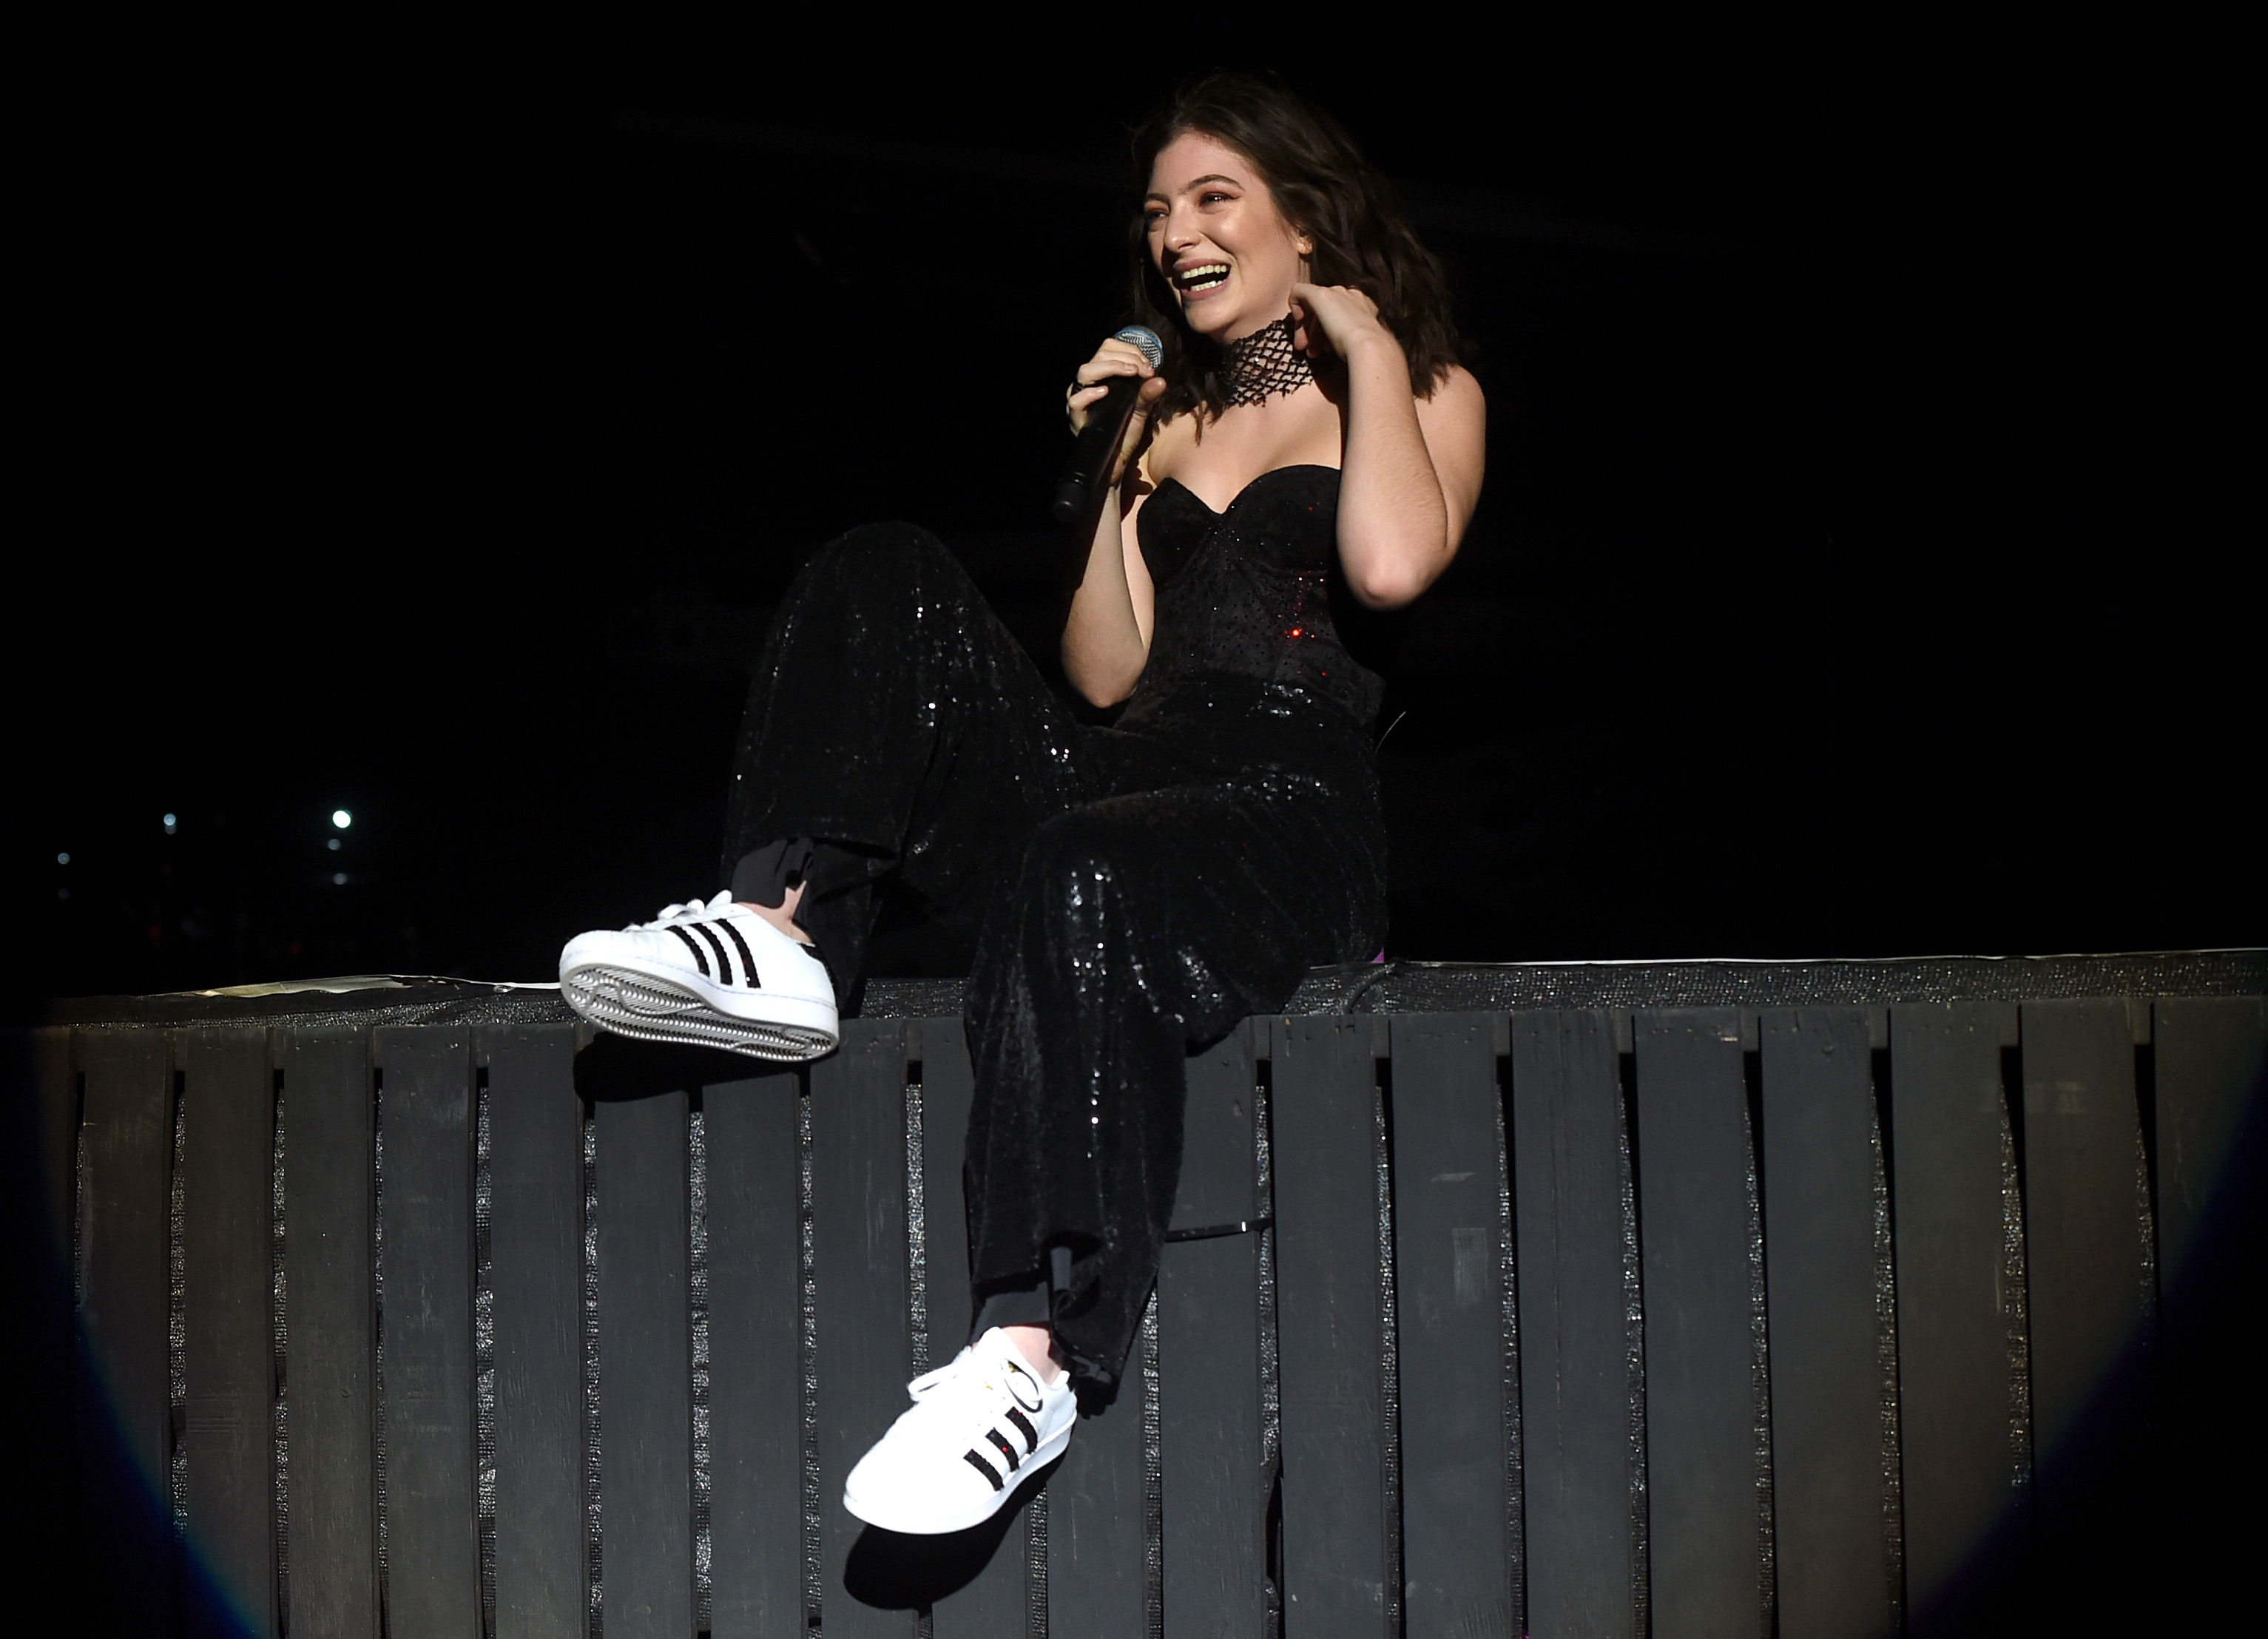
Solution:
M 1136 1639 L 1150 1632 L 1152 1589 L 1170 1639 L 1259 1632 L 1277 1594 L 1295 1639 L 1381 1634 L 1397 1605 L 1411 1639 L 1520 1628 L 1633 1634 L 1642 1619 L 1656 1632 L 1746 1637 L 1776 1623 L 1787 1639 L 1869 1634 L 1892 1630 L 1901 1591 L 1910 1632 L 1980 1632 L 2009 1616 L 2007 1600 L 2084 1610 L 2100 1566 L 2141 1542 L 2152 1508 L 2148 1419 L 2186 1428 L 2195 1410 L 2182 1394 L 2225 1383 L 2225 1362 L 2191 1342 L 2207 1335 L 2207 1299 L 2189 1292 L 2184 1272 L 2227 1263 L 2216 1188 L 2263 1095 L 2268 1013 L 2257 997 L 2161 1000 L 2148 1011 L 2116 997 L 1901 1004 L 1887 1009 L 1887 1086 L 1876 1086 L 1869 1050 L 1880 1018 L 1869 1027 L 1860 1009 L 1769 1011 L 1753 1038 L 1760 1133 L 1749 1131 L 1733 1011 L 1633 1016 L 1642 1326 L 1624 1285 L 1628 1133 L 1615 1018 L 1399 1016 L 1390 1036 L 1381 1025 L 1268 1020 L 1191 1061 L 1173 1222 L 1232 1233 L 1173 1242 L 1161 1267 L 1161 1535 L 1148 1526 L 1136 1349 L 1118 1403 L 1082 1421 L 1050 1480 L 1043 1596 L 1027 1580 L 1036 1523 L 1025 1510 L 989 1560 L 923 1594 L 934 1600 L 930 1632 Z M 79 1111 L 84 1199 L 73 1213 L 66 1188 L 48 1233 L 68 1238 L 75 1224 L 84 1267 L 79 1440 L 95 1625 L 218 1630 L 225 1616 L 234 1630 L 277 1625 L 268 1190 L 281 1088 L 290 1410 L 281 1614 L 293 1634 L 376 1632 L 372 1079 L 381 1065 L 383 1603 L 395 1632 L 481 1630 L 472 1378 L 481 1065 L 497 1632 L 578 1632 L 590 1498 L 572 1029 L 82 1029 L 48 1045 L 45 1172 L 70 1174 L 70 1111 Z M 1263 1054 L 1281 1589 L 1268 1582 L 1261 1399 Z M 919 1147 L 905 1124 L 916 1061 Z M 2009 1086 L 2016 1063 L 2021 1086 Z M 179 1433 L 166 1342 L 177 1086 L 188 1385 Z M 610 1634 L 694 1630 L 692 1093 L 596 1109 Z M 853 1022 L 844 1052 L 805 1072 L 701 1093 L 712 1632 L 796 1632 L 807 1614 L 798 1322 L 807 1113 L 823 1625 L 909 1634 L 916 1600 L 875 1582 L 887 1544 L 869 1544 L 862 1580 L 853 1566 L 862 1530 L 839 1492 L 850 1462 L 905 1406 L 916 1349 L 939 1365 L 964 1337 L 959 1170 L 973 1086 L 959 1025 Z M 2155 1220 L 2139 1172 L 2152 1118 Z M 1880 1399 L 1878 1145 L 1894 1220 L 1894 1428 Z M 1758 1147 L 1767 1401 L 1753 1376 L 1749 1263 Z M 1377 1220 L 1388 1163 L 1390 1269 Z M 909 1188 L 923 1206 L 925 1333 L 909 1331 Z M 1506 1353 L 1506 1251 L 1517 1265 L 1517 1358 Z M 1388 1274 L 1390 1337 L 1381 1333 Z M 1631 1376 L 1640 1337 L 1642 1399 Z M 2164 1399 L 2152 1401 L 2159 1362 Z M 1404 1390 L 1399 1412 L 1386 1396 L 1388 1372 Z M 1633 1442 L 1637 1410 L 1642 1442 Z M 1769 1428 L 1762 1446 L 1760 1428 Z M 166 1548 L 177 1446 L 195 1571 L 179 1589 Z M 1896 1487 L 1885 1474 L 1892 1453 Z M 1402 1585 L 1390 1587 L 1397 1542 Z

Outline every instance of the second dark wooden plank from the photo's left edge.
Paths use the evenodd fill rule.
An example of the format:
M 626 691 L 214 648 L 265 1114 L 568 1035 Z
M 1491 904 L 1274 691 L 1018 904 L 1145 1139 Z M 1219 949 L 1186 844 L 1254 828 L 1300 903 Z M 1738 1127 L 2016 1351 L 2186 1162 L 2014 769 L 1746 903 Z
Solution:
M 154 1029 L 82 1029 L 79 1197 L 82 1539 L 88 1628 L 172 1632 L 172 1396 L 166 1369 L 166 1192 L 172 1054 Z

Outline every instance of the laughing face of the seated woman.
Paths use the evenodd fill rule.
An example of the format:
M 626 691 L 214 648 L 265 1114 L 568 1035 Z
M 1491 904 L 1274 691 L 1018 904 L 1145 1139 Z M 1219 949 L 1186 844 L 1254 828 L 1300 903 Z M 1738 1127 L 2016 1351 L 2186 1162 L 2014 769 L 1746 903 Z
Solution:
M 1313 243 L 1275 206 L 1250 159 L 1202 131 L 1159 150 L 1150 165 L 1150 258 L 1166 274 L 1188 329 L 1236 342 L 1290 311 Z

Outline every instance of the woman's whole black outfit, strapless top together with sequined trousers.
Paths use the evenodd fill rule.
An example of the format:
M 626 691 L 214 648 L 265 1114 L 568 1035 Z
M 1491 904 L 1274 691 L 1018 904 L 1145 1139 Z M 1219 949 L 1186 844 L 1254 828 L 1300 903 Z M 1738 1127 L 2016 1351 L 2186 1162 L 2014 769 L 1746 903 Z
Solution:
M 1381 685 L 1334 619 L 1336 517 L 1331 467 L 1263 474 L 1222 515 L 1161 485 L 1139 519 L 1150 657 L 1111 728 L 1082 725 L 907 524 L 812 560 L 748 700 L 735 898 L 778 905 L 792 859 L 844 1000 L 882 873 L 978 925 L 975 1319 L 1052 1322 L 1098 1387 L 1157 1279 L 1184 1056 L 1383 936 Z

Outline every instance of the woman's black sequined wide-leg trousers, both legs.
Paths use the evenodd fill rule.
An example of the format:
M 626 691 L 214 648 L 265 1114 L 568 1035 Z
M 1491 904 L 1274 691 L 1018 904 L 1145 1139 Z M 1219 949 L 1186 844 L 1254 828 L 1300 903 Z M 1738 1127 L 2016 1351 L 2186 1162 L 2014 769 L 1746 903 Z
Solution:
M 1098 1383 L 1157 1279 L 1186 1054 L 1379 936 L 1374 791 L 1234 739 L 1084 730 L 903 524 L 796 580 L 742 728 L 726 875 L 814 839 L 798 920 L 846 997 L 882 873 L 980 918 L 971 1276 L 980 1301 L 1039 1290 L 1030 1317 Z

